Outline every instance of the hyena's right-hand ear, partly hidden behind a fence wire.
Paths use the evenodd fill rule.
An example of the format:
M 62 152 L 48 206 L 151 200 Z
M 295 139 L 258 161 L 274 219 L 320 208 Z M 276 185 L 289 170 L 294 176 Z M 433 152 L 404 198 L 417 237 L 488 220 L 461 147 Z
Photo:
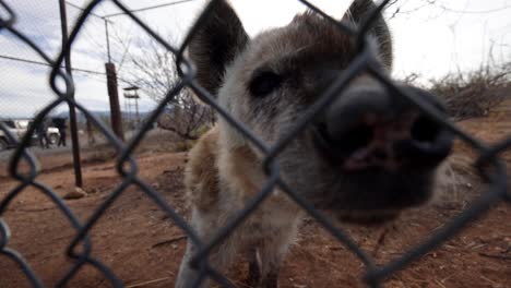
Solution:
M 372 0 L 355 0 L 349 7 L 348 11 L 344 15 L 344 21 L 349 21 L 353 24 L 359 26 L 367 17 L 371 14 L 377 5 Z M 377 15 L 377 19 L 372 22 L 372 27 L 369 33 L 373 35 L 378 43 L 379 55 L 383 64 L 391 70 L 392 69 L 392 36 L 383 20 L 381 13 Z

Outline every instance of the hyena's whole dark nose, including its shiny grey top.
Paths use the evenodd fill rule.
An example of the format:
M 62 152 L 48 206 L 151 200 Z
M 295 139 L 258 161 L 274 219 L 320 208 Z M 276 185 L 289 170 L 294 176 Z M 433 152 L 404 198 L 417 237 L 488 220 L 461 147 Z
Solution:
M 431 94 L 406 88 L 442 107 Z M 341 95 L 314 132 L 321 153 L 344 171 L 432 169 L 449 155 L 453 142 L 450 131 L 403 97 L 368 87 Z

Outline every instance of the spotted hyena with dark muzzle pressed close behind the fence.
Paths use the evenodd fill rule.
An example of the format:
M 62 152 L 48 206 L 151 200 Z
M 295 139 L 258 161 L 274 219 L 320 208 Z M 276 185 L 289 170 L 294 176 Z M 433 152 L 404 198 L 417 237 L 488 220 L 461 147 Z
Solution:
M 342 21 L 359 25 L 375 8 L 370 0 L 356 0 Z M 391 35 L 381 14 L 368 37 L 372 58 L 390 73 Z M 310 11 L 250 39 L 225 0 L 216 1 L 189 47 L 199 84 L 269 146 L 296 125 L 356 55 L 353 37 Z M 443 111 L 428 93 L 399 85 Z M 451 146 L 449 131 L 366 72 L 294 137 L 276 164 L 282 180 L 317 209 L 343 221 L 375 224 L 430 199 Z M 268 180 L 264 156 L 222 118 L 190 152 L 185 181 L 191 225 L 205 242 Z M 214 249 L 211 265 L 225 269 L 235 255 L 246 253 L 250 285 L 276 287 L 301 216 L 298 205 L 275 188 Z M 190 266 L 195 252 L 189 241 L 179 288 L 197 280 L 199 274 Z

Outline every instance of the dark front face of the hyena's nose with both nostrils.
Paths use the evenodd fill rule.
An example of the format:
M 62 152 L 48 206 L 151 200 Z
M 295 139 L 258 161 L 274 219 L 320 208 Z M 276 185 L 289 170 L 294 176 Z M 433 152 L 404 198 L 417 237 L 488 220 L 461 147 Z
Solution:
M 317 140 L 328 161 L 346 171 L 404 167 L 430 169 L 442 161 L 452 148 L 453 135 L 424 115 L 404 112 L 392 119 L 385 113 L 359 113 L 361 121 L 318 125 Z

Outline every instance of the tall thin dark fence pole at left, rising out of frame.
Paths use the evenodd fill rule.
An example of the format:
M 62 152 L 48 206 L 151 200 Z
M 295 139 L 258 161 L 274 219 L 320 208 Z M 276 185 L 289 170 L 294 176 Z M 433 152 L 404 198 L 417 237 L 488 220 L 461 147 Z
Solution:
M 60 7 L 60 26 L 62 29 L 62 48 L 66 47 L 68 43 L 68 17 L 66 15 L 66 1 L 59 0 Z M 64 56 L 66 72 L 70 77 L 71 73 L 71 49 L 66 52 Z M 74 94 L 70 95 L 74 99 Z M 76 111 L 74 106 L 69 105 L 69 121 L 71 130 L 71 143 L 73 152 L 73 167 L 74 167 L 74 183 L 79 188 L 83 188 L 82 182 L 82 164 L 80 160 L 80 143 L 78 137 L 78 125 L 76 125 Z

